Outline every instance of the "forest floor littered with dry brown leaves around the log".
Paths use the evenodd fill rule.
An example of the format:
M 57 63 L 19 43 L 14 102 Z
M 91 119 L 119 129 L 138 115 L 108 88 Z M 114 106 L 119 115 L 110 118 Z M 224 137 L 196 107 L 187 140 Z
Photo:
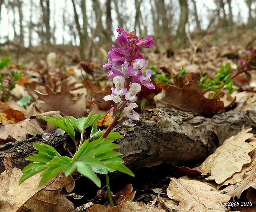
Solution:
M 157 87 L 158 91 L 147 93 L 147 96 L 145 96 L 147 100 L 146 108 L 162 107 L 163 105 L 167 105 L 166 107 L 171 105 L 170 107 L 172 107 L 172 103 L 166 103 L 166 101 L 163 100 L 164 96 L 160 96 L 158 101 L 154 97 L 161 93 L 161 90 L 159 90 L 161 89 L 161 86 L 163 86 L 161 83 L 166 84 L 165 80 L 166 78 L 168 79 L 168 77 L 172 77 L 170 82 L 173 82 L 175 76 L 178 75 L 183 66 L 187 72 L 197 72 L 198 70 L 201 70 L 201 72 L 206 72 L 206 75 L 213 79 L 221 65 L 225 66 L 226 63 L 230 63 L 230 71 L 231 75 L 233 75 L 237 70 L 239 59 L 242 58 L 246 52 L 250 52 L 252 49 L 256 49 L 256 33 L 253 29 L 219 29 L 216 32 L 212 31 L 206 35 L 198 33 L 192 34 L 190 36 L 191 41 L 187 43 L 186 47 L 182 47 L 180 49 L 170 49 L 169 47 L 162 47 L 159 41 L 155 40 L 155 47 L 148 49 L 146 52 L 143 52 L 147 62 L 147 68 L 152 69 L 152 78 L 154 83 L 159 83 L 159 86 Z M 68 83 L 68 89 L 73 100 L 76 100 L 78 96 L 81 95 L 81 93 L 86 93 L 87 96 L 85 101 L 86 107 L 88 109 L 92 107 L 93 103 L 97 105 L 97 109 L 92 109 L 94 111 L 105 113 L 109 109 L 109 105 L 104 104 L 103 100 L 99 100 L 106 95 L 106 93 L 103 91 L 107 91 L 107 89 L 112 86 L 112 82 L 107 78 L 107 72 L 102 69 L 102 65 L 107 63 L 108 59 L 108 50 L 105 49 L 105 47 L 99 47 L 94 51 L 93 57 L 88 60 L 90 62 L 88 63 L 90 68 L 88 68 L 87 72 L 79 68 L 80 61 L 78 61 L 78 50 L 75 47 L 33 47 L 26 50 L 19 50 L 19 62 L 16 63 L 17 61 L 15 61 L 15 58 L 17 59 L 17 50 L 18 49 L 16 49 L 16 47 L 6 47 L 1 49 L 2 56 L 9 56 L 14 58 L 9 63 L 8 68 L 1 70 L 1 74 L 3 76 L 5 76 L 8 70 L 11 70 L 12 72 L 15 72 L 16 70 L 24 70 L 24 73 L 18 80 L 15 89 L 12 90 L 11 98 L 5 103 L 0 102 L 0 115 L 2 120 L 2 124 L 0 125 L 0 142 L 2 146 L 4 146 L 7 142 L 27 140 L 36 134 L 42 134 L 46 132 L 44 131 L 45 123 L 40 123 L 37 130 L 33 129 L 32 133 L 28 133 L 26 131 L 19 135 L 17 135 L 17 132 L 14 132 L 13 134 L 10 133 L 10 130 L 8 131 L 7 125 L 12 124 L 20 127 L 20 121 L 14 120 L 14 122 L 11 122 L 9 118 L 6 118 L 7 116 L 3 115 L 6 109 L 13 109 L 22 112 L 26 120 L 29 119 L 30 116 L 35 116 L 36 114 L 42 114 L 51 110 L 59 111 L 61 114 L 67 116 L 71 115 L 65 114 L 66 111 L 62 107 L 54 108 L 54 106 L 51 106 L 51 108 L 49 108 L 49 105 L 47 105 L 46 101 L 43 103 L 42 99 L 38 100 L 38 95 L 34 92 L 34 90 L 45 94 L 45 86 L 49 86 L 53 92 L 59 94 L 63 89 L 62 81 L 65 80 Z M 51 52 L 55 52 L 56 59 L 55 55 L 49 56 Z M 92 75 L 90 75 L 91 70 L 93 70 L 94 77 L 97 79 L 96 82 L 94 82 Z M 234 86 L 237 88 L 237 91 L 227 97 L 231 98 L 231 100 L 229 100 L 227 104 L 225 103 L 222 105 L 219 111 L 211 111 L 210 114 L 207 114 L 205 110 L 203 112 L 187 112 L 192 112 L 195 116 L 201 115 L 212 117 L 214 114 L 224 112 L 227 109 L 233 110 L 237 108 L 237 110 L 244 111 L 247 109 L 256 110 L 255 102 L 248 101 L 250 98 L 254 99 L 254 94 L 256 91 L 256 72 L 255 70 L 252 70 L 250 73 L 251 79 L 248 79 L 247 75 L 244 73 L 232 79 Z M 170 84 L 166 84 L 166 86 L 168 87 Z M 148 91 L 144 92 L 146 93 Z M 27 94 L 31 96 L 31 100 L 29 100 L 28 103 L 24 105 L 26 106 L 26 109 L 24 109 L 17 105 L 16 102 Z M 47 98 L 47 101 L 49 102 L 55 101 L 54 95 L 50 95 L 49 93 Z M 213 103 L 216 103 L 217 99 L 213 98 L 213 100 L 215 100 Z M 84 107 L 84 105 L 80 106 Z M 175 108 L 180 109 L 182 106 L 175 105 Z M 15 119 L 15 117 L 12 117 L 12 119 Z M 107 125 L 104 124 L 102 125 L 102 127 L 106 126 Z M 48 130 L 48 133 L 49 132 L 50 131 Z M 73 175 L 73 178 L 75 179 L 75 187 L 72 192 L 77 196 L 76 198 L 73 198 L 70 196 L 70 194 L 68 194 L 67 198 L 74 204 L 75 208 L 83 206 L 81 210 L 77 209 L 77 211 L 90 212 L 189 211 L 192 207 L 194 207 L 195 210 L 201 211 L 255 211 L 256 179 L 253 176 L 256 174 L 254 166 L 254 163 L 256 163 L 256 159 L 254 157 L 256 154 L 256 151 L 254 151 L 256 145 L 255 140 L 251 137 L 253 137 L 253 134 L 242 130 L 242 126 L 241 133 L 236 137 L 233 137 L 233 140 L 239 140 L 239 147 L 241 147 L 243 150 L 247 150 L 244 150 L 240 155 L 240 158 L 243 158 L 243 160 L 241 160 L 242 162 L 237 162 L 239 163 L 239 165 L 237 165 L 239 168 L 233 171 L 227 171 L 231 173 L 227 176 L 223 176 L 221 173 L 214 172 L 214 167 L 210 165 L 214 165 L 214 162 L 211 161 L 211 158 L 207 159 L 208 161 L 202 160 L 201 163 L 204 162 L 204 165 L 197 164 L 194 161 L 191 161 L 191 163 L 187 164 L 172 164 L 170 161 L 170 163 L 163 163 L 157 166 L 152 166 L 150 168 L 140 168 L 138 170 L 133 170 L 135 177 L 130 177 L 125 174 L 110 174 L 110 186 L 113 194 L 117 194 L 119 191 L 126 187 L 126 189 L 124 189 L 124 193 L 122 193 L 124 196 L 123 203 L 121 203 L 123 208 L 119 206 L 111 208 L 108 206 L 109 203 L 108 199 L 106 198 L 106 194 L 104 196 L 104 193 L 106 192 L 104 189 L 99 190 L 99 188 L 95 186 L 95 184 L 93 184 L 90 180 L 85 177 L 81 177 L 81 175 L 75 174 Z M 249 139 L 249 141 L 247 139 Z M 247 142 L 245 142 L 246 140 Z M 232 144 L 232 141 L 228 142 Z M 244 145 L 247 144 L 250 146 L 245 147 Z M 220 150 L 218 154 L 216 153 L 217 156 L 214 155 L 216 161 L 229 160 L 228 158 L 223 159 L 225 152 L 229 151 L 225 149 L 226 147 L 223 148 L 225 150 L 223 153 L 221 153 Z M 220 158 L 222 157 L 222 159 L 218 158 L 218 155 L 221 155 Z M 238 159 L 231 157 L 230 160 L 236 161 Z M 187 168 L 185 168 L 186 170 L 181 170 L 173 165 L 188 166 L 189 171 Z M 201 165 L 200 169 L 199 165 Z M 1 167 L 3 167 L 3 165 L 1 165 Z M 197 167 L 196 170 L 190 170 L 190 168 L 192 169 L 195 167 Z M 248 169 L 245 170 L 246 168 Z M 2 177 L 1 179 L 8 178 L 6 178 L 4 173 L 5 172 L 2 172 L 0 175 L 0 178 Z M 210 175 L 209 179 L 204 179 L 200 173 L 204 173 L 206 177 Z M 240 174 L 240 176 L 242 175 L 241 180 L 236 180 L 237 178 L 235 174 Z M 11 174 L 8 176 L 11 176 Z M 104 185 L 104 176 L 99 177 L 102 181 L 102 185 Z M 230 183 L 228 179 L 232 177 L 234 182 Z M 219 180 L 219 178 L 221 179 Z M 188 179 L 190 179 L 190 181 L 193 179 L 194 182 L 197 181 L 200 184 L 190 184 L 191 182 L 188 182 Z M 247 181 L 244 182 L 243 180 Z M 11 183 L 11 181 L 9 181 L 9 183 Z M 211 187 L 204 187 L 204 185 L 201 185 L 201 183 L 207 186 L 210 185 Z M 6 189 L 11 186 L 11 184 L 8 186 L 6 184 L 8 183 L 5 182 L 5 185 L 0 184 L 0 196 L 5 196 L 5 194 L 3 194 L 3 190 L 7 191 Z M 218 187 L 218 185 L 220 186 Z M 234 185 L 235 187 L 231 188 L 230 185 Z M 243 185 L 245 188 L 244 190 L 240 189 L 241 185 Z M 183 190 L 182 188 L 185 189 Z M 193 192 L 199 192 L 197 189 L 200 189 L 204 192 L 201 194 L 201 196 L 205 197 L 204 199 L 200 199 L 200 197 L 197 197 L 195 194 L 193 194 Z M 173 192 L 174 190 L 175 192 Z M 213 190 L 218 193 L 211 193 Z M 220 193 L 221 190 L 223 190 L 222 193 Z M 132 191 L 136 191 L 136 193 L 133 193 Z M 187 191 L 189 191 L 190 194 L 186 193 Z M 62 191 L 62 194 L 63 193 L 64 189 Z M 31 196 L 33 195 L 31 194 Z M 0 197 L 1 201 L 4 200 L 2 196 Z M 212 196 L 215 198 L 215 200 L 207 205 L 206 203 L 212 200 Z M 197 198 L 197 201 L 193 202 L 191 197 L 194 199 Z M 237 197 L 239 197 L 239 199 Z M 30 198 L 31 197 L 28 199 Z M 117 198 L 118 196 L 114 197 L 114 199 Z M 8 206 L 1 206 L 1 204 L 3 204 L 1 201 L 0 208 L 6 207 L 5 211 L 8 211 Z M 15 201 L 15 199 L 13 201 Z M 219 203 L 222 204 L 224 202 L 230 202 L 230 205 L 218 205 Z M 92 203 L 93 207 L 90 205 Z M 192 206 L 189 203 L 191 203 Z M 231 203 L 236 203 L 236 205 L 231 205 Z M 98 204 L 102 205 L 102 207 L 98 207 Z M 243 205 L 241 206 L 241 204 Z M 25 203 L 23 202 L 20 203 L 20 205 L 13 205 L 15 207 L 12 208 L 16 208 L 21 211 L 21 206 L 24 206 Z M 28 205 L 25 206 L 27 208 L 29 207 Z M 66 207 L 65 210 L 72 211 L 70 208 L 72 207 Z M 62 211 L 65 210 L 62 209 Z

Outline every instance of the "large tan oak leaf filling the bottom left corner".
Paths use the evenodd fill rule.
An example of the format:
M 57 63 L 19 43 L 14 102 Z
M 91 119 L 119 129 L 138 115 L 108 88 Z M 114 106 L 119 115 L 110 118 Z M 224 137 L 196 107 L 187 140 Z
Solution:
M 71 176 L 66 177 L 60 173 L 46 182 L 40 189 L 38 185 L 42 176 L 40 173 L 27 179 L 19 185 L 22 171 L 12 168 L 11 160 L 5 163 L 6 171 L 0 175 L 0 211 L 1 212 L 73 212 L 74 206 L 71 201 L 60 193 L 65 187 L 71 192 L 74 180 Z M 8 167 L 8 168 L 7 168 Z

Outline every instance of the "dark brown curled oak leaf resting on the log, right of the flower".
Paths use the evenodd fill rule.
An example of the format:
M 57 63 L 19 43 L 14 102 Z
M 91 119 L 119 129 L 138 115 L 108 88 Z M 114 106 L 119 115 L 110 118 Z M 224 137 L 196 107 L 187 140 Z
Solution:
M 228 106 L 220 101 L 224 93 L 218 93 L 215 98 L 208 99 L 204 97 L 201 88 L 194 81 L 189 81 L 183 89 L 169 86 L 168 89 L 162 90 L 161 93 L 154 97 L 156 107 L 166 107 L 186 112 L 192 112 L 201 116 L 213 116 L 218 112 L 222 112 L 225 108 L 235 104 L 235 98 Z

